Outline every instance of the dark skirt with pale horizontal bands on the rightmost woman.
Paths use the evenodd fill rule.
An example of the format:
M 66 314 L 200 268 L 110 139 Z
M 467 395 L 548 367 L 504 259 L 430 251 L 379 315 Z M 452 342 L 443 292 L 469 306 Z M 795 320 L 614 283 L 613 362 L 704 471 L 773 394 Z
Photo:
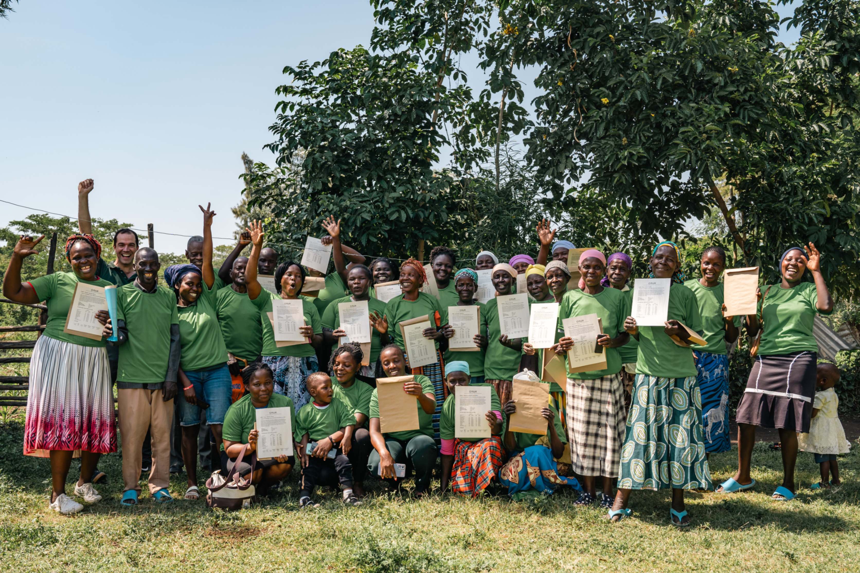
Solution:
M 808 432 L 818 354 L 757 356 L 735 420 L 761 428 Z

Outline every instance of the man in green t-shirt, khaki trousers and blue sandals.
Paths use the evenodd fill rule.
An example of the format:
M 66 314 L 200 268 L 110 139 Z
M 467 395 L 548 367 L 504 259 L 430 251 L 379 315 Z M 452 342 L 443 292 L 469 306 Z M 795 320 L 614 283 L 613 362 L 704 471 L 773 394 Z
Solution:
M 179 315 L 176 297 L 158 286 L 158 254 L 144 248 L 134 256 L 137 278 L 117 289 L 117 342 L 120 362 L 117 393 L 122 436 L 122 479 L 125 487 L 120 504 L 138 503 L 141 452 L 147 430 L 152 439 L 150 493 L 156 502 L 170 502 L 170 426 L 179 369 Z M 106 336 L 113 332 L 105 327 Z

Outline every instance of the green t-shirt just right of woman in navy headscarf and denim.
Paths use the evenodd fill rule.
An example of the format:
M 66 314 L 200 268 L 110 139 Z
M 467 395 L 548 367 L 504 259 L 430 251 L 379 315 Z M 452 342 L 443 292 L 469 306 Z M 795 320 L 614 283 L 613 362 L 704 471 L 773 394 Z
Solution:
M 237 293 L 226 286 L 215 295 L 215 311 L 227 352 L 249 362 L 260 355 L 263 348 L 263 327 L 260 309 L 248 293 Z

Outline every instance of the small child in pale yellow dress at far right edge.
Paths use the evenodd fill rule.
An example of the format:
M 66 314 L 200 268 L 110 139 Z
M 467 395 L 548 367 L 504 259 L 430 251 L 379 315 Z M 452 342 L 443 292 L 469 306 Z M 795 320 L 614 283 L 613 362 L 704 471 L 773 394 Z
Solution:
M 815 454 L 821 468 L 821 481 L 812 484 L 813 490 L 837 488 L 839 481 L 839 453 L 848 453 L 851 442 L 845 440 L 845 430 L 839 422 L 839 397 L 833 386 L 839 382 L 839 368 L 832 364 L 819 364 L 815 382 L 815 399 L 812 404 L 812 422 L 808 434 L 797 436 L 803 452 Z

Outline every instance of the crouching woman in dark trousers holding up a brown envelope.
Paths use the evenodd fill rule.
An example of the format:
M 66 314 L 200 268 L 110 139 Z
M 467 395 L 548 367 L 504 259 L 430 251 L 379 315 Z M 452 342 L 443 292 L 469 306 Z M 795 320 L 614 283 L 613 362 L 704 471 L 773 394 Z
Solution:
M 385 375 L 389 378 L 406 376 L 406 358 L 396 344 L 389 344 L 379 353 L 379 361 Z M 371 443 L 373 451 L 367 460 L 367 470 L 372 476 L 378 476 L 389 484 L 398 484 L 394 465 L 406 465 L 406 472 L 415 470 L 415 496 L 424 495 L 430 488 L 433 478 L 433 465 L 439 449 L 433 441 L 433 412 L 436 411 L 436 396 L 433 383 L 427 376 L 415 374 L 412 382 L 403 384 L 403 391 L 415 396 L 415 407 L 418 409 L 418 424 L 416 430 L 390 432 L 383 434 L 379 423 L 378 390 L 373 390 L 371 396 Z

